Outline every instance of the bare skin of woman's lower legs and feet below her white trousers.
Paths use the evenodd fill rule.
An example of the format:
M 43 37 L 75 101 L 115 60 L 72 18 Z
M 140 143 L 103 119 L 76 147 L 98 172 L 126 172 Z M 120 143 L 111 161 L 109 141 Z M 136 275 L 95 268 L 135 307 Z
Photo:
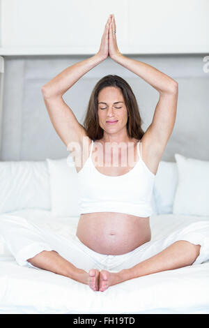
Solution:
M 199 256 L 200 248 L 200 245 L 194 245 L 189 241 L 176 241 L 160 253 L 134 267 L 118 272 L 99 271 L 98 269 L 91 269 L 87 272 L 75 267 L 55 251 L 42 251 L 28 261 L 35 267 L 68 276 L 75 281 L 89 285 L 94 291 L 104 292 L 109 286 L 132 278 L 192 265 Z

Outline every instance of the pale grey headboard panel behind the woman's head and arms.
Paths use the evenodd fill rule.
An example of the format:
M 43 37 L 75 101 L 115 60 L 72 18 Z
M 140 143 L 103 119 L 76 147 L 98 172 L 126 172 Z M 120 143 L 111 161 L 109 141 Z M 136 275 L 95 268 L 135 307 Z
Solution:
M 40 88 L 64 68 L 86 57 L 6 57 L 3 100 L 2 161 L 67 157 L 69 152 L 54 130 Z M 176 124 L 162 159 L 174 154 L 209 161 L 209 72 L 201 55 L 135 56 L 178 81 Z M 123 77 L 132 87 L 144 121 L 150 125 L 159 94 L 140 77 L 106 59 L 90 70 L 63 96 L 82 124 L 91 91 L 107 74 Z

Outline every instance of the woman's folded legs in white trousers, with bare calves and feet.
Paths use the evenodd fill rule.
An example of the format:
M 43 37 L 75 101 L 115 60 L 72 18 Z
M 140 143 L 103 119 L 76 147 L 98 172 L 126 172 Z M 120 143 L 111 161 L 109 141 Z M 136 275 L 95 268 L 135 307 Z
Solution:
M 156 248 L 155 242 L 152 243 L 152 253 L 150 253 L 149 245 L 147 253 L 142 246 L 143 256 L 139 263 L 136 256 L 134 258 L 134 264 L 137 263 L 136 265 L 133 266 L 132 262 L 129 262 L 130 265 L 127 266 L 129 269 L 124 269 L 125 266 L 122 266 L 121 271 L 119 269 L 118 272 L 113 273 L 104 269 L 101 271 L 92 269 L 94 260 L 78 247 L 74 238 L 60 237 L 48 230 L 38 228 L 20 217 L 8 216 L 1 219 L 0 225 L 1 234 L 8 242 L 10 251 L 20 265 L 31 262 L 34 267 L 68 276 L 75 281 L 89 285 L 92 290 L 100 290 L 101 292 L 107 290 L 111 285 L 132 278 L 191 265 L 199 256 L 201 249 L 199 241 L 202 239 L 209 240 L 208 222 L 192 223 L 183 230 L 173 232 L 168 238 L 169 244 L 165 243 L 167 248 L 164 246 L 162 250 L 162 245 L 165 245 L 164 239 L 163 241 L 161 239 L 157 241 L 160 245 L 158 248 Z M 189 242 L 184 238 L 180 238 L 180 236 L 190 233 L 192 241 L 193 238 L 195 240 L 194 244 L 191 240 Z M 177 237 L 178 241 L 176 241 Z M 41 251 L 42 249 L 45 249 L 45 251 Z M 138 250 L 136 249 L 136 251 Z M 35 253 L 36 255 L 32 257 L 31 254 Z M 28 256 L 28 254 L 30 255 Z M 137 253 L 134 250 L 134 256 L 135 254 Z M 77 267 L 72 263 L 75 263 Z M 87 271 L 79 269 L 79 267 L 87 268 Z

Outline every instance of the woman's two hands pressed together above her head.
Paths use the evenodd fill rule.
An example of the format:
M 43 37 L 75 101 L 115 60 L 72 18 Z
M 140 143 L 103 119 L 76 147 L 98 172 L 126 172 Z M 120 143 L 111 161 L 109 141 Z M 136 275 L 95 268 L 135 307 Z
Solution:
M 121 55 L 116 40 L 116 21 L 113 14 L 109 15 L 107 23 L 105 24 L 100 50 L 97 54 L 102 57 L 102 59 L 106 59 L 107 57 L 114 59 L 116 56 Z

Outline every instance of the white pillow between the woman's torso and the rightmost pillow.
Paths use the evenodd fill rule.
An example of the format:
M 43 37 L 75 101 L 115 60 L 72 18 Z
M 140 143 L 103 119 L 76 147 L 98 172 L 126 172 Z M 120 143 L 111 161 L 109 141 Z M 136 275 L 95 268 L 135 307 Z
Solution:
M 175 162 L 160 161 L 153 194 L 157 214 L 173 213 L 173 200 L 178 182 L 178 170 Z

